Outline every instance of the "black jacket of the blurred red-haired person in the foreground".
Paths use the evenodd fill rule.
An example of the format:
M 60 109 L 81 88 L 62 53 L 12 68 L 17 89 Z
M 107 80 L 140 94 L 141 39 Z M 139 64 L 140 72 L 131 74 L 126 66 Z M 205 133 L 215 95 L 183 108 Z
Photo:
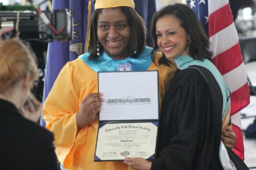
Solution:
M 59 169 L 53 133 L 23 118 L 14 104 L 2 99 L 0 138 L 0 169 Z

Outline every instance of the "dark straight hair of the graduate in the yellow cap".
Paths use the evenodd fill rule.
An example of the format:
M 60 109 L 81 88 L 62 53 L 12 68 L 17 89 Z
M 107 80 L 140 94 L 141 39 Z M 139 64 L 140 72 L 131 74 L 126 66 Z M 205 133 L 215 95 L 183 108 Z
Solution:
M 116 8 L 111 8 L 113 10 L 120 10 L 125 14 L 128 19 L 128 24 L 130 27 L 130 51 L 131 58 L 137 58 L 138 55 L 143 51 L 146 44 L 146 27 L 141 16 L 135 11 L 135 9 L 120 6 Z M 97 20 L 98 16 L 102 14 L 103 9 L 96 9 L 91 16 L 91 29 L 90 29 L 90 44 L 89 44 L 89 59 L 97 60 Z M 116 16 L 118 17 L 118 16 Z M 100 43 L 100 42 L 99 42 Z M 136 51 L 136 53 L 134 53 Z M 103 47 L 100 47 L 100 53 L 102 54 Z

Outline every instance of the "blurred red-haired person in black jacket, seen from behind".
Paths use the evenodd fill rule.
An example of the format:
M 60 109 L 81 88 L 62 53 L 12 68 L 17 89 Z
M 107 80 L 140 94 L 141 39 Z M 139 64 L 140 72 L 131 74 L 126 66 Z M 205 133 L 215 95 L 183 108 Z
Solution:
M 0 169 L 58 169 L 53 133 L 36 124 L 43 106 L 31 94 L 33 52 L 18 39 L 0 41 L 0 68 Z

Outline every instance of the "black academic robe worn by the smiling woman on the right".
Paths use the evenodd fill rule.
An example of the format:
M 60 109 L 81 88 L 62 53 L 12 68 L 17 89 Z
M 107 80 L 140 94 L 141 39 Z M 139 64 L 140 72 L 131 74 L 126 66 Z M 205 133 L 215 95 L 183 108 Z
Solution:
M 152 170 L 223 169 L 222 92 L 201 66 L 177 70 L 163 101 Z

